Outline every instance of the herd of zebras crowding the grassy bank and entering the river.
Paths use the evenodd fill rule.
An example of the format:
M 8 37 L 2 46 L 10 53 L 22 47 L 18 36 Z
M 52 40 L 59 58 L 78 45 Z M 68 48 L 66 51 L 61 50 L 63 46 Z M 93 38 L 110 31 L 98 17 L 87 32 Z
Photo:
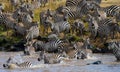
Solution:
M 40 22 L 37 22 L 33 21 L 34 12 L 25 1 L 11 0 L 11 4 L 16 7 L 17 1 L 21 2 L 13 13 L 5 13 L 4 7 L 0 5 L 0 24 L 6 29 L 12 29 L 16 36 L 23 35 L 25 55 L 40 52 L 38 61 L 43 60 L 45 64 L 60 63 L 63 58 L 86 59 L 94 48 L 90 40 L 100 37 L 101 42 L 104 42 L 108 49 L 113 51 L 117 60 L 120 60 L 120 42 L 106 42 L 109 37 L 115 39 L 120 33 L 120 6 L 101 7 L 102 0 L 66 0 L 64 6 L 40 12 Z M 48 2 L 37 0 L 37 3 L 42 3 L 41 1 L 46 1 L 44 4 Z M 42 27 L 47 37 L 40 35 Z M 90 33 L 90 38 L 84 36 L 85 32 Z M 63 38 L 61 33 L 64 34 Z M 82 36 L 83 41 L 75 41 L 72 36 L 68 38 L 71 33 Z M 55 58 L 52 58 L 54 56 Z M 31 67 L 32 64 L 28 61 L 14 61 L 14 57 L 10 57 L 3 67 L 11 66 L 22 68 Z

